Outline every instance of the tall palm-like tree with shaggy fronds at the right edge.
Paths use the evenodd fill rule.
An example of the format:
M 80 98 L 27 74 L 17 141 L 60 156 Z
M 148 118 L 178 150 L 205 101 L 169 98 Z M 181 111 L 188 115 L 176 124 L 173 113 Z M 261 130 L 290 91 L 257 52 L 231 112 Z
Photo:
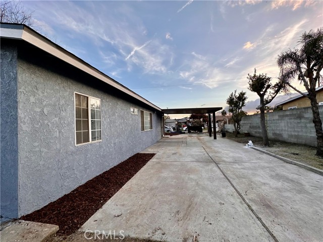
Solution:
M 320 85 L 320 72 L 323 68 L 323 28 L 304 32 L 298 43 L 299 49 L 289 49 L 278 56 L 277 64 L 281 69 L 280 80 L 287 88 L 295 90 L 310 100 L 317 139 L 316 155 L 323 157 L 322 122 L 315 92 L 316 84 Z M 293 86 L 292 81 L 296 77 L 303 83 L 307 93 Z

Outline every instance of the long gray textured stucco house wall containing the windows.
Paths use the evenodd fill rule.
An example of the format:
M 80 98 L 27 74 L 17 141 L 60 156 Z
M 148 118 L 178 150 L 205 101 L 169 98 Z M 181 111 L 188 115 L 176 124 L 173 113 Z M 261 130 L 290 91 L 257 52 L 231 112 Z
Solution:
M 75 146 L 74 92 L 101 99 L 101 142 Z M 150 111 L 18 58 L 19 216 L 158 141 L 161 113 L 142 132 L 140 109 Z

